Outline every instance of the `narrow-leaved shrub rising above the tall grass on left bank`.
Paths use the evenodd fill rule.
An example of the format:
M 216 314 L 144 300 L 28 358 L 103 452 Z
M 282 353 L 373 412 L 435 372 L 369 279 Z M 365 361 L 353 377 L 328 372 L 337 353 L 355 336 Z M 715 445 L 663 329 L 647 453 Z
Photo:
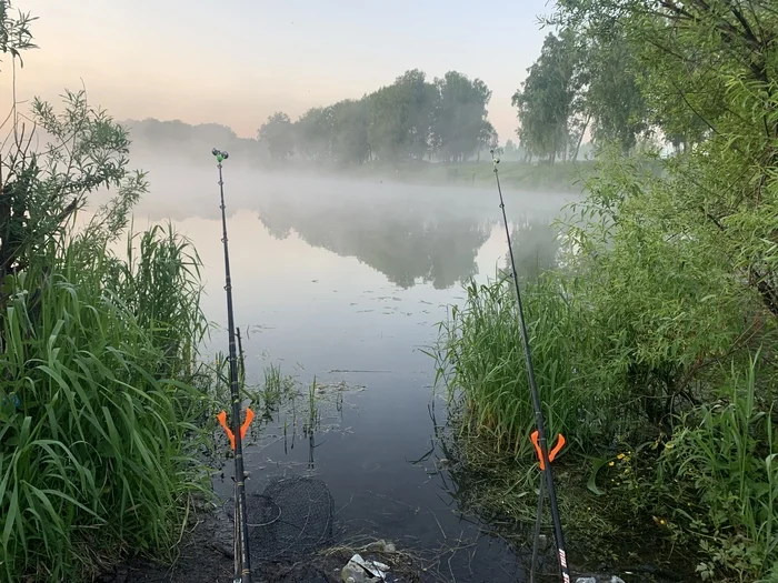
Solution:
M 102 233 L 117 233 L 126 225 L 127 213 L 121 211 L 146 191 L 144 174 L 127 169 L 127 130 L 103 110 L 91 108 L 83 91 L 68 91 L 63 101 L 63 111 L 56 113 L 53 105 L 36 99 L 32 119 L 44 147 L 31 150 L 36 133 L 20 137 L 2 159 L 0 283 L 44 252 L 89 193 L 117 189 L 117 197 L 94 219 L 104 223 Z

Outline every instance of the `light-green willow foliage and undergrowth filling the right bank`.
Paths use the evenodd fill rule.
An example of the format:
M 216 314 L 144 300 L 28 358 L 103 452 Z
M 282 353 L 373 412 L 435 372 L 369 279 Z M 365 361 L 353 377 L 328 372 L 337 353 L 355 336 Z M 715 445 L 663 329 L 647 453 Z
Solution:
M 609 512 L 630 524 L 652 521 L 674 546 L 695 553 L 702 579 L 768 580 L 778 563 L 775 7 L 725 0 L 559 7 L 555 22 L 598 49 L 581 61 L 580 105 L 589 108 L 601 143 L 587 198 L 560 222 L 556 274 L 575 292 L 568 301 L 578 312 L 553 323 L 573 329 L 565 320 L 572 319 L 586 333 L 572 341 L 556 333 L 542 314 L 559 301 L 529 292 L 539 369 L 553 355 L 562 370 L 576 371 L 550 394 L 541 375 L 547 409 L 572 424 L 562 425 L 577 438 L 572 452 L 592 456 L 587 484 Z M 587 71 L 592 62 L 625 74 L 597 78 Z M 607 99 L 614 103 L 600 109 Z M 682 148 L 662 158 L 639 143 L 655 130 Z M 499 313 L 501 301 L 470 296 L 463 313 L 473 305 Z M 450 353 L 455 385 L 475 401 L 468 413 L 499 406 L 500 432 L 526 433 L 528 402 L 513 402 L 526 391 L 490 389 L 493 378 L 511 386 L 501 371 L 520 371 L 507 324 L 493 316 L 460 321 L 445 339 L 478 346 Z M 580 418 L 566 414 L 568 401 Z M 488 415 L 476 421 L 491 429 Z

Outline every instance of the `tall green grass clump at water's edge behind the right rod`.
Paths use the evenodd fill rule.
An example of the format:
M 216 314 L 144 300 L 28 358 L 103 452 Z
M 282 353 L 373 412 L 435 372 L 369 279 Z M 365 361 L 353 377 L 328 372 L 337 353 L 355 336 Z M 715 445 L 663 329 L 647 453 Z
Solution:
M 527 380 L 516 295 L 510 280 L 467 285 L 462 308 L 441 324 L 440 375 L 450 400 L 461 399 L 465 426 L 488 431 L 501 448 L 529 454 L 535 413 Z M 559 281 L 543 275 L 522 292 L 536 380 L 548 430 L 580 442 L 586 379 L 579 355 L 585 343 L 580 308 Z M 590 403 L 588 403 L 590 404 Z

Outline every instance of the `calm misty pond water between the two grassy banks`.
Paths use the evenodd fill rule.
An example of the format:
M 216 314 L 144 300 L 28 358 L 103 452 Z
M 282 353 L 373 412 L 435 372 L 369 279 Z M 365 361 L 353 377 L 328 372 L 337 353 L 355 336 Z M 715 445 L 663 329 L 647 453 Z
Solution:
M 226 190 L 249 383 L 272 363 L 303 391 L 313 378 L 323 385 L 312 438 L 307 392 L 251 433 L 249 492 L 272 476 L 312 473 L 335 499 L 341 537 L 387 539 L 438 556 L 431 569 L 451 581 L 522 580 L 506 545 L 458 512 L 446 462 L 436 460 L 432 418 L 445 422 L 445 403 L 436 403 L 433 362 L 421 351 L 446 306 L 462 301 L 461 283 L 486 281 L 505 264 L 496 191 L 283 180 L 260 188 L 237 174 L 226 175 Z M 188 203 L 166 204 L 205 262 L 203 310 L 223 326 L 221 224 L 209 190 L 217 187 L 203 180 Z M 522 272 L 553 261 L 548 225 L 565 200 L 509 194 Z M 226 348 L 220 329 L 206 351 Z M 215 482 L 226 496 L 231 471 Z

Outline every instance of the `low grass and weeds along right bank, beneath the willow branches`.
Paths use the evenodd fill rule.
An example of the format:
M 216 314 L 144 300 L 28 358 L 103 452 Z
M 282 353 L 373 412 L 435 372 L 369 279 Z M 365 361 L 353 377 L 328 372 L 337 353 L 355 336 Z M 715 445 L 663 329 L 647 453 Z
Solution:
M 650 532 L 667 549 L 686 549 L 687 566 L 704 579 L 775 575 L 778 439 L 770 404 L 759 396 L 759 352 L 746 363 L 732 360 L 707 402 L 687 408 L 666 432 L 622 402 L 635 393 L 626 379 L 601 382 L 602 346 L 586 326 L 596 321 L 591 305 L 563 281 L 558 272 L 545 273 L 526 284 L 522 299 L 547 432 L 550 439 L 563 433 L 569 444 L 555 465 L 570 501 L 562 503 L 569 512 L 562 520 L 571 540 L 601 541 L 607 549 L 612 529 L 631 541 Z M 536 491 L 528 481 L 537 465 L 529 440 L 535 419 L 508 283 L 467 285 L 467 300 L 451 308 L 429 354 L 438 362 L 436 384 L 446 385 L 457 439 L 467 444 L 462 451 L 481 452 L 465 455 L 465 466 L 502 475 L 476 495 L 481 513 L 488 519 L 512 509 L 512 520 L 526 521 L 536 501 L 527 496 Z

